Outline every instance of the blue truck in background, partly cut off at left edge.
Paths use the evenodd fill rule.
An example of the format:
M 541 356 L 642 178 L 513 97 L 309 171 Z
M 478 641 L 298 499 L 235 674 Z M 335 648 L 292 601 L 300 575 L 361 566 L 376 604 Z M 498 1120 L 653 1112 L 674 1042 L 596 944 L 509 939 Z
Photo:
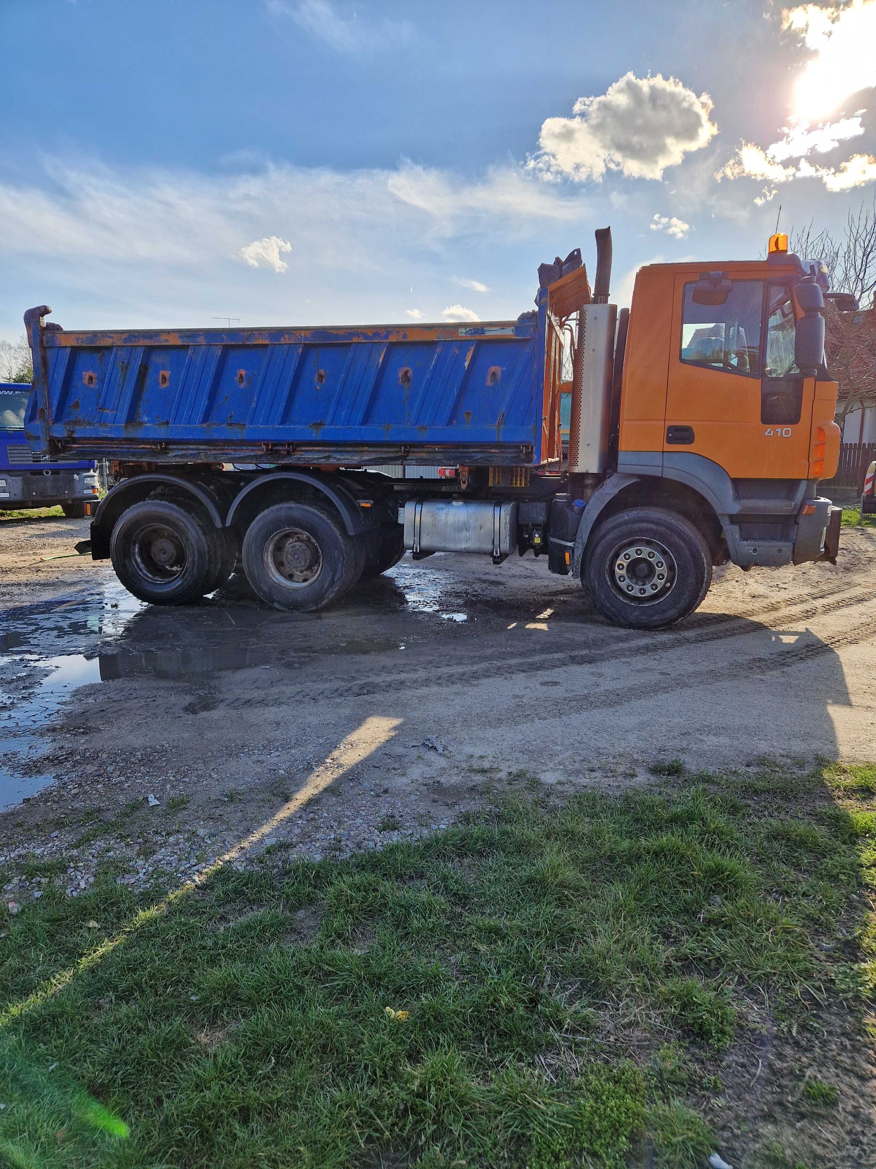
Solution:
M 30 386 L 0 382 L 0 509 L 20 511 L 61 505 L 82 519 L 97 507 L 97 463 L 33 451 L 25 435 Z

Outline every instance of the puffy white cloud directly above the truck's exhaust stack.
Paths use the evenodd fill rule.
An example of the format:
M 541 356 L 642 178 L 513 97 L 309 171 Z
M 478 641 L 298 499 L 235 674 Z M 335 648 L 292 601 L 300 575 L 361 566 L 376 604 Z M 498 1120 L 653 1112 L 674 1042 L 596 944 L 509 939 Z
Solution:
M 548 118 L 530 167 L 544 178 L 577 181 L 620 171 L 631 179 L 662 179 L 668 166 L 705 146 L 717 126 L 711 98 L 674 77 L 625 74 L 599 97 L 580 97 L 571 118 Z

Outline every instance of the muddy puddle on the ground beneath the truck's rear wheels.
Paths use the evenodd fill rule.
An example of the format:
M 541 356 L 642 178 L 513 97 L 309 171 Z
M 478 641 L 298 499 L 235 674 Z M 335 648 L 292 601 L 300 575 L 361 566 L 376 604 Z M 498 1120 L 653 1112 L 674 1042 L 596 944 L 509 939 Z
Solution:
M 325 614 L 286 614 L 258 603 L 237 577 L 202 604 L 175 609 L 144 604 L 107 576 L 72 596 L 8 609 L 0 614 L 0 810 L 51 781 L 30 774 L 40 732 L 78 686 L 411 650 L 424 625 L 468 620 L 459 597 L 450 604 L 445 596 L 453 583 L 446 572 L 403 562 Z M 390 615 L 415 620 L 399 629 Z

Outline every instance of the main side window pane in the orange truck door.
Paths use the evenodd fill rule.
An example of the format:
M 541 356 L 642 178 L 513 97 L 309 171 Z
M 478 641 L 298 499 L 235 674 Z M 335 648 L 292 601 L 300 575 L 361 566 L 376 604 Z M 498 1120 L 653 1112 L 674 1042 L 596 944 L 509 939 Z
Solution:
M 724 304 L 695 304 L 684 285 L 681 360 L 724 373 L 760 376 L 762 281 L 736 281 Z

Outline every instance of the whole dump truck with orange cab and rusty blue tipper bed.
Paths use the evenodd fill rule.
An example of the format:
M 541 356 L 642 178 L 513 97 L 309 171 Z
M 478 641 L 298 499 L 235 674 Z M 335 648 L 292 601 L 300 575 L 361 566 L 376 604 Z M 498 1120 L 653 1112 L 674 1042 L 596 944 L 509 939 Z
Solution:
M 609 622 L 658 629 L 716 565 L 835 562 L 825 267 L 777 235 L 762 260 L 645 267 L 618 311 L 596 237 L 592 289 L 576 249 L 514 320 L 68 332 L 30 309 L 28 441 L 111 461 L 91 555 L 157 604 L 238 566 L 314 610 L 405 552 L 531 554 Z M 368 471 L 434 465 L 456 473 Z

